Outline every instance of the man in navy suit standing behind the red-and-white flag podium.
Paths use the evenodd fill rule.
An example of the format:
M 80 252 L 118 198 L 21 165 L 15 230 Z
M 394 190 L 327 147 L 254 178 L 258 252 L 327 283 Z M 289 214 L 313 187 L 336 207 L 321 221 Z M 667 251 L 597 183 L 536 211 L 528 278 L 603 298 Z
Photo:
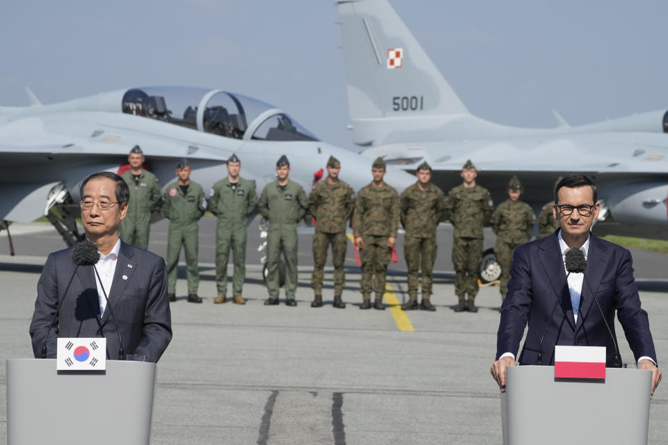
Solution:
M 501 309 L 497 360 L 491 367 L 494 379 L 504 391 L 506 368 L 517 364 L 515 357 L 527 321 L 527 337 L 518 360 L 521 364 L 539 364 L 542 349 L 542 364 L 552 365 L 555 345 L 580 345 L 605 346 L 607 366 L 612 366 L 614 342 L 594 302 L 593 291 L 613 335 L 617 310 L 637 367 L 653 371 L 654 394 L 661 371 L 656 365 L 647 313 L 640 307 L 631 254 L 589 232 L 601 210 L 596 186 L 584 175 L 568 175 L 555 188 L 553 207 L 560 229 L 515 250 L 508 294 Z M 584 274 L 571 273 L 566 281 L 564 255 L 569 248 L 582 250 L 588 265 Z M 561 296 L 561 307 L 552 314 L 557 296 Z

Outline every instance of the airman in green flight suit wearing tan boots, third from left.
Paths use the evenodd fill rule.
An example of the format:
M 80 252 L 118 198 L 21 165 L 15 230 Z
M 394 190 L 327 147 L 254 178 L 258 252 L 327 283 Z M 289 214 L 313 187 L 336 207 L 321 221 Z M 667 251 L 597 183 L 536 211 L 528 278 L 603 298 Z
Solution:
M 226 300 L 228 290 L 228 259 L 232 249 L 232 302 L 245 305 L 241 296 L 246 278 L 246 222 L 257 212 L 257 195 L 252 182 L 239 177 L 241 161 L 236 154 L 228 159 L 228 177 L 214 184 L 209 198 L 209 211 L 218 217 L 216 229 L 216 286 L 214 303 Z

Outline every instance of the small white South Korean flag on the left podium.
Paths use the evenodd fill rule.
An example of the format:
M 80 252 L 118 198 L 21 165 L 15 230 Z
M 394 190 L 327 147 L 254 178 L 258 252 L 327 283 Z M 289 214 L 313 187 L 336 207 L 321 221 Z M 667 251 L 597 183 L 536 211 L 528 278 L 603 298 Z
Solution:
M 106 339 L 101 337 L 58 338 L 56 347 L 58 371 L 105 371 Z

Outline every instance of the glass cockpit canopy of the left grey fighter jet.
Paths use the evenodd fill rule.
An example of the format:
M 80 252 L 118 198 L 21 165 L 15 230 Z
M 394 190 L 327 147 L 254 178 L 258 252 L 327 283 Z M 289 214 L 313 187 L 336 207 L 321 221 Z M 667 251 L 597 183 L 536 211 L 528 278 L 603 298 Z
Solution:
M 318 140 L 280 109 L 221 90 L 132 88 L 123 96 L 122 112 L 226 138 Z

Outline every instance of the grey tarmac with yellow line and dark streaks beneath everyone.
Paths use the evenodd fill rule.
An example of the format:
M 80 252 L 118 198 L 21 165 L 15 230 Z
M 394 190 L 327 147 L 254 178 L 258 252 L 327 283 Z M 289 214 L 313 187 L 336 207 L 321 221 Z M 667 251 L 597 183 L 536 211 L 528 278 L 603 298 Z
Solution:
M 166 251 L 166 223 L 153 226 L 150 249 Z M 28 327 L 46 255 L 63 248 L 48 226 L 11 226 L 14 257 L 0 232 L 0 358 L 32 357 Z M 453 312 L 452 227 L 438 229 L 436 312 L 401 312 L 406 276 L 399 236 L 390 266 L 388 310 L 358 310 L 359 268 L 349 248 L 346 309 L 310 307 L 310 236 L 300 236 L 297 307 L 265 307 L 256 225 L 250 227 L 246 305 L 213 305 L 214 218 L 200 221 L 201 305 L 186 302 L 184 264 L 174 337 L 158 363 L 152 444 L 500 444 L 500 392 L 489 374 L 496 349 L 498 287 L 480 289 L 477 314 Z M 493 246 L 486 233 L 486 247 Z M 658 359 L 668 357 L 668 254 L 633 250 L 643 307 Z M 231 266 L 230 266 L 231 273 Z M 230 282 L 231 286 L 231 282 Z M 230 296 L 230 292 L 228 292 Z M 624 362 L 633 362 L 616 327 Z M 633 366 L 633 365 L 632 365 Z M 6 369 L 0 367 L 0 386 Z M 548 403 L 548 401 L 546 401 Z M 598 415 L 591 413 L 592 416 Z M 668 388 L 651 401 L 649 444 L 668 443 Z M 555 420 L 555 421 L 558 421 Z M 0 399 L 0 437 L 6 437 Z M 619 426 L 621 427 L 621 426 Z

